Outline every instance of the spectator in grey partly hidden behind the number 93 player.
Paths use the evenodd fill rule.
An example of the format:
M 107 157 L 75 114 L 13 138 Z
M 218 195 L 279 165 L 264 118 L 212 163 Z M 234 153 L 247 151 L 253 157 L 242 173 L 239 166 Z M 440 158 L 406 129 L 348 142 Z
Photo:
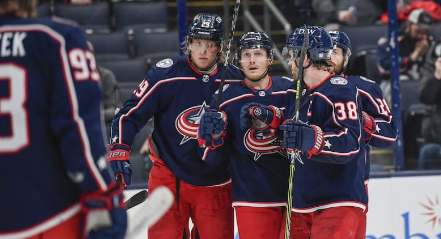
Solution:
M 90 51 L 95 54 L 94 47 L 92 45 L 92 42 L 87 41 L 87 46 L 89 47 Z M 115 110 L 117 108 L 116 105 L 116 89 L 118 88 L 117 85 L 117 78 L 115 77 L 115 74 L 100 65 L 97 64 L 98 73 L 100 74 L 101 79 L 101 86 L 102 86 L 102 101 L 103 101 L 103 110 L 104 110 L 104 121 L 106 122 L 106 125 L 110 127 L 112 124 L 112 120 L 115 117 Z M 106 128 L 109 128 L 106 127 Z

